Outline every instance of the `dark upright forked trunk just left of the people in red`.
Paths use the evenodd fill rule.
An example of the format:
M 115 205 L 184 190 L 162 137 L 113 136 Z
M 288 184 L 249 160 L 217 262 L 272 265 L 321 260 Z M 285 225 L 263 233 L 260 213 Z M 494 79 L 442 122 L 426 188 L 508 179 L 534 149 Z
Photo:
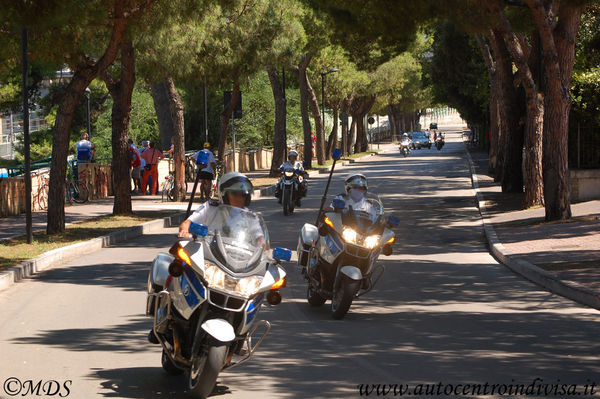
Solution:
M 115 81 L 108 71 L 102 74 L 113 99 L 112 106 L 112 181 L 115 195 L 113 215 L 131 214 L 131 177 L 128 154 L 131 97 L 135 86 L 135 50 L 131 40 L 121 43 L 121 76 Z

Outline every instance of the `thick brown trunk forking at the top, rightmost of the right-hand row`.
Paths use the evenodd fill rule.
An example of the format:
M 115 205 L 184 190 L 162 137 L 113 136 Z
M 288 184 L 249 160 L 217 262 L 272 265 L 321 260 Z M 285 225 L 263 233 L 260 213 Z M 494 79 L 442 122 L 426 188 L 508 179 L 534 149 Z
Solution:
M 543 175 L 546 220 L 571 217 L 568 138 L 571 97 L 569 87 L 575 60 L 575 43 L 581 3 L 561 2 L 558 19 L 555 9 L 546 9 L 540 0 L 526 0 L 540 32 L 544 54 L 544 137 Z

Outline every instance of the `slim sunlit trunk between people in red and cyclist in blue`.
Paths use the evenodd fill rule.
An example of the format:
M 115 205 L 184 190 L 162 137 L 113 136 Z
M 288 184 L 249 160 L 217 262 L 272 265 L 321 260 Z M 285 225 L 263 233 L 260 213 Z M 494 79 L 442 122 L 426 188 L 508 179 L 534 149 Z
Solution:
M 173 169 L 175 190 L 174 201 L 185 201 L 187 184 L 185 182 L 185 130 L 183 121 L 183 102 L 173 78 L 166 77 L 164 80 L 167 97 L 169 99 L 169 111 L 173 121 Z

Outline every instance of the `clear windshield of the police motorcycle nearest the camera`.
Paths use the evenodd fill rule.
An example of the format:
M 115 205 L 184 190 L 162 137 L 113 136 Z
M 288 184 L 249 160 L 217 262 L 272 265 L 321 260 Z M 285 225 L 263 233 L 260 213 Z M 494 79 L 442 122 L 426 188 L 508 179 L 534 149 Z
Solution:
M 219 205 L 207 227 L 205 242 L 215 261 L 235 274 L 250 273 L 260 266 L 269 249 L 269 233 L 260 215 Z

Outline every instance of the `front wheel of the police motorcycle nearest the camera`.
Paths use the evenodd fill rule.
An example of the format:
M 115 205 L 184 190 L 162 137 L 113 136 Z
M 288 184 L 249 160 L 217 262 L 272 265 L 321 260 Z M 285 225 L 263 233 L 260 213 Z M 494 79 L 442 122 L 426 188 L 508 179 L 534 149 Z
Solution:
M 194 360 L 188 372 L 188 388 L 194 398 L 206 399 L 212 393 L 226 356 L 226 345 L 211 346 Z

